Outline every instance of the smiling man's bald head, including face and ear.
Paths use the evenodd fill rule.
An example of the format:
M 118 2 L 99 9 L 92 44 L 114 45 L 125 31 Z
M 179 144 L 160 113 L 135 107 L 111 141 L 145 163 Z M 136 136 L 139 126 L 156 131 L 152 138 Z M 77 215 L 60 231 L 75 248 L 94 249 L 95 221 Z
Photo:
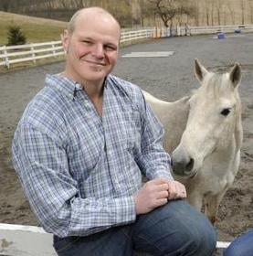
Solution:
M 79 10 L 64 31 L 65 74 L 79 82 L 104 80 L 116 64 L 120 35 L 119 23 L 106 10 Z

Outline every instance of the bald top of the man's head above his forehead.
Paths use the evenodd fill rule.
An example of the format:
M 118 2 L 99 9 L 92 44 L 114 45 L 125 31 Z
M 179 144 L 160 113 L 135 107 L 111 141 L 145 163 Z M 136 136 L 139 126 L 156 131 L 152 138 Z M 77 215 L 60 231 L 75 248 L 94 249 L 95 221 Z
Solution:
M 80 9 L 70 18 L 69 25 L 68 25 L 68 31 L 70 34 L 74 32 L 76 24 L 80 18 L 86 19 L 87 21 L 94 18 L 104 19 L 106 21 L 115 23 L 115 25 L 119 27 L 119 30 L 121 30 L 121 26 L 119 22 L 108 11 L 100 7 L 90 7 L 90 8 Z

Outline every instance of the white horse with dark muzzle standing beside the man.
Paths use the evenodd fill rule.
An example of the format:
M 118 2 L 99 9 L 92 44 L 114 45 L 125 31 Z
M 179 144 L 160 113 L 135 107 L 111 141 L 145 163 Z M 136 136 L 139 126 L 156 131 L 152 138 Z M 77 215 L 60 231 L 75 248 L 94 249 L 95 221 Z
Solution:
M 172 144 L 168 140 L 175 139 L 177 144 L 182 135 L 172 155 L 174 177 L 184 183 L 189 203 L 199 210 L 205 206 L 206 216 L 214 223 L 219 203 L 232 185 L 240 162 L 242 124 L 237 88 L 241 69 L 235 64 L 229 73 L 216 74 L 195 60 L 195 75 L 201 87 L 189 101 L 184 98 L 167 108 L 163 102 L 163 107 L 157 108 L 159 100 L 146 100 L 164 125 L 166 150 L 174 149 L 174 145 L 166 147 Z M 168 125 L 170 119 L 173 122 Z

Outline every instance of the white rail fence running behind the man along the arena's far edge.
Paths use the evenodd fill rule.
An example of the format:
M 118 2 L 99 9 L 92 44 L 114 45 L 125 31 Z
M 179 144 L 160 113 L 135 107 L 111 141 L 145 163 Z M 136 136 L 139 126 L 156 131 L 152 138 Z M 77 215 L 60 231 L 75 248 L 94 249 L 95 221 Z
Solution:
M 137 30 L 124 30 L 121 32 L 121 45 L 132 44 L 145 38 L 194 36 L 203 34 L 216 34 L 218 32 L 234 33 L 253 32 L 253 25 L 228 25 L 215 27 L 148 27 Z M 10 68 L 11 64 L 25 61 L 36 62 L 37 59 L 55 58 L 63 56 L 65 51 L 61 41 L 27 44 L 21 46 L 0 47 L 0 66 Z

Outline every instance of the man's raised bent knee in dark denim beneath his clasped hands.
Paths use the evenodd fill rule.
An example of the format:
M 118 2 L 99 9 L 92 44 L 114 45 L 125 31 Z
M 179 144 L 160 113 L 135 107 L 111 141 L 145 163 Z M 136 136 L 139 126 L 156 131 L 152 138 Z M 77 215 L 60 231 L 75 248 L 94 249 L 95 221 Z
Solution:
M 141 217 L 137 232 L 144 239 L 139 240 L 142 247 L 156 251 L 150 251 L 153 255 L 207 256 L 216 247 L 216 232 L 209 220 L 183 200 L 171 201 Z

